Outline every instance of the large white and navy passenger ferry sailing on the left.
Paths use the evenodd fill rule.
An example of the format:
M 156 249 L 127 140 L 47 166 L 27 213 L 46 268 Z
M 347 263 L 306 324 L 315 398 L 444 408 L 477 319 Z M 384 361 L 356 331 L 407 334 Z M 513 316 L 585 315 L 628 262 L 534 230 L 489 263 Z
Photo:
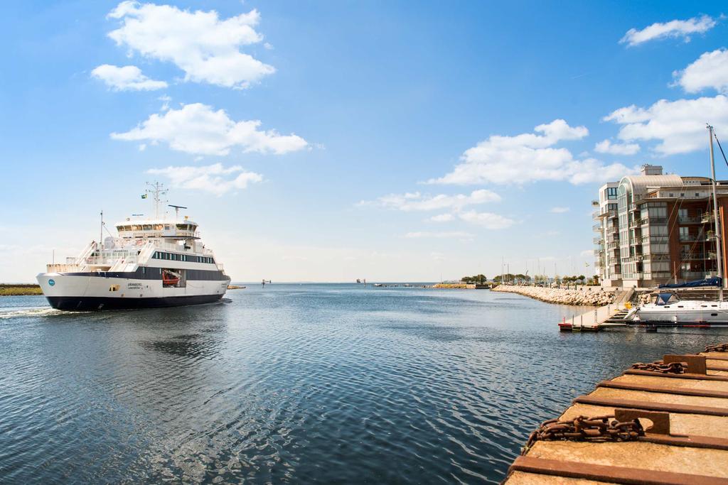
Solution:
M 78 257 L 47 265 L 36 278 L 58 310 L 119 310 L 198 305 L 221 300 L 230 283 L 223 265 L 199 239 L 198 224 L 184 216 L 159 217 L 155 183 L 155 217 L 127 217 L 116 224 L 118 237 L 91 241 Z M 146 199 L 146 195 L 142 196 Z M 102 231 L 106 227 L 103 225 Z

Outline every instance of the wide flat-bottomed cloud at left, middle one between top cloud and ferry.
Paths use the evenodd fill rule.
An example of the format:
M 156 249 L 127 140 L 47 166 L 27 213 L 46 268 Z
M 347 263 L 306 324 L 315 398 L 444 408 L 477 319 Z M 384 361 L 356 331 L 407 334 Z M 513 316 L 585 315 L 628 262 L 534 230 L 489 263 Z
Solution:
M 297 135 L 258 130 L 261 121 L 233 121 L 223 110 L 201 103 L 153 114 L 125 133 L 111 133 L 114 140 L 165 142 L 170 148 L 202 155 L 227 155 L 236 146 L 245 152 L 288 153 L 306 148 Z

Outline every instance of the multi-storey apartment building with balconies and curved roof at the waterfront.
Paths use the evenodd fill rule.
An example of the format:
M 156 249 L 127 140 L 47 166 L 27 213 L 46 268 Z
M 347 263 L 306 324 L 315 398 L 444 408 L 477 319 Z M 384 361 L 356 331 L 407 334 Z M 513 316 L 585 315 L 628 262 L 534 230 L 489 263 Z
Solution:
M 728 181 L 719 181 L 717 193 L 725 228 Z M 592 204 L 596 272 L 604 285 L 649 287 L 716 275 L 710 178 L 664 175 L 662 167 L 644 165 L 640 175 L 602 185 Z M 725 248 L 725 231 L 721 236 Z

